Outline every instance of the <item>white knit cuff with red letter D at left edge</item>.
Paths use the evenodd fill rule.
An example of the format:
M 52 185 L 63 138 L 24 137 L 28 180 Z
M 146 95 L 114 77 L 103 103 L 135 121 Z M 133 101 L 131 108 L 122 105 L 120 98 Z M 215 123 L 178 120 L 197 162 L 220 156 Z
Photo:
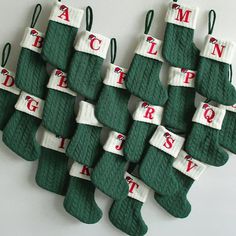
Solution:
M 14 93 L 16 95 L 20 94 L 20 89 L 15 85 L 15 73 L 0 66 L 0 89 Z

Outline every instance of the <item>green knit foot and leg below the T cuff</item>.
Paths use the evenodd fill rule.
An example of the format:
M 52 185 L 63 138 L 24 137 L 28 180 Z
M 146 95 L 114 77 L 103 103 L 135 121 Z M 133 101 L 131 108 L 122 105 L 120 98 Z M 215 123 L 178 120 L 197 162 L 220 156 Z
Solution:
M 141 215 L 142 206 L 142 202 L 130 197 L 114 201 L 109 211 L 109 219 L 115 227 L 128 235 L 145 235 L 148 227 Z

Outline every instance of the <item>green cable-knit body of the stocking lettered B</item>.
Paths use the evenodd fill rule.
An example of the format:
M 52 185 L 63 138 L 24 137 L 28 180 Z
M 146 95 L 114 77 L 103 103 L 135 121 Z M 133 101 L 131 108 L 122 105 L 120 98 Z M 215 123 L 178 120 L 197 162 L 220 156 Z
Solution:
M 26 48 L 21 49 L 17 64 L 15 84 L 31 95 L 44 98 L 49 76 L 46 70 L 46 62 L 41 55 Z

